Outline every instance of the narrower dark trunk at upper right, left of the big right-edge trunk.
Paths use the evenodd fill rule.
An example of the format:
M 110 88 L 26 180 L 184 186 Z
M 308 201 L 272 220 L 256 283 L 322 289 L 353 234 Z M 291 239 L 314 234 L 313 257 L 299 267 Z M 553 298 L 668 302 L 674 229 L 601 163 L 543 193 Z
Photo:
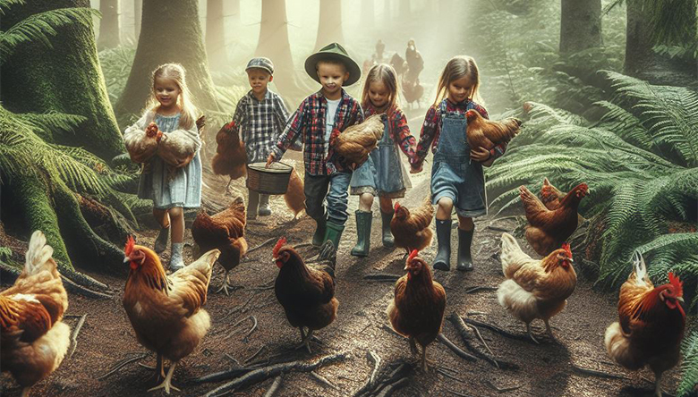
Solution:
M 560 53 L 601 46 L 601 0 L 562 0 Z

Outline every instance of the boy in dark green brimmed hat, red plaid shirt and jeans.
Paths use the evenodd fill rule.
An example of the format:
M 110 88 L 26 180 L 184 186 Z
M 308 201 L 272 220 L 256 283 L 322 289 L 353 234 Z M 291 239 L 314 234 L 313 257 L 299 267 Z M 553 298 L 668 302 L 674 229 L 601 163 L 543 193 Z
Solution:
M 320 246 L 330 240 L 337 248 L 348 217 L 346 190 L 352 170 L 329 148 L 329 141 L 333 133 L 363 121 L 362 106 L 342 89 L 359 80 L 361 69 L 342 46 L 332 43 L 305 60 L 305 72 L 322 89 L 302 101 L 269 155 L 267 165 L 280 159 L 286 148 L 302 136 L 305 212 L 317 223 L 312 244 Z

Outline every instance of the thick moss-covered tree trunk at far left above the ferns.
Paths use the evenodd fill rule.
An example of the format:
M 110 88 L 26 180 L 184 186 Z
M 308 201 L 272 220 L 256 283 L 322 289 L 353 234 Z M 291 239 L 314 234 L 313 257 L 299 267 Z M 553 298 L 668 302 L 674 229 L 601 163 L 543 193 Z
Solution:
M 5 13 L 0 29 L 34 13 L 64 7 L 89 7 L 88 0 L 34 0 L 13 6 Z M 15 113 L 80 114 L 88 121 L 78 132 L 56 137 L 58 143 L 81 146 L 108 160 L 123 153 L 123 139 L 116 125 L 99 68 L 91 23 L 72 24 L 57 30 L 60 39 L 51 47 L 30 42 L 18 46 L 3 65 L 3 105 Z

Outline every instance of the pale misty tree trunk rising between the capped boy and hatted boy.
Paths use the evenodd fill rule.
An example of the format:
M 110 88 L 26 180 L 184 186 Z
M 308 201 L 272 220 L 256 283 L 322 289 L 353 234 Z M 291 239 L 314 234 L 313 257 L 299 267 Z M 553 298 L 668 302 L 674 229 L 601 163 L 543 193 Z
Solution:
M 274 84 L 285 97 L 296 97 L 298 86 L 295 79 L 294 58 L 288 42 L 285 0 L 263 0 L 260 41 L 255 56 L 267 56 L 274 63 Z

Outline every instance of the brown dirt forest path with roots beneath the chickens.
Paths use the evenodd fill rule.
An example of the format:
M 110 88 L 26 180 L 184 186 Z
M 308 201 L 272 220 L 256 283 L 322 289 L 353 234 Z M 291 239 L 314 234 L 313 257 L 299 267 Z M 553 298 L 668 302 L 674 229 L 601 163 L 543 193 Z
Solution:
M 419 131 L 419 125 L 413 125 L 413 131 Z M 421 203 L 429 192 L 429 175 L 429 170 L 413 175 L 413 189 L 408 190 L 401 204 L 416 207 Z M 211 181 L 210 188 L 223 191 L 225 185 L 223 178 L 216 178 Z M 234 182 L 231 189 L 244 191 L 243 182 Z M 230 200 L 233 197 L 229 194 L 218 199 Z M 606 327 L 617 321 L 617 295 L 592 288 L 592 280 L 585 277 L 579 268 L 575 293 L 568 300 L 565 310 L 550 321 L 557 341 L 544 335 L 544 326 L 537 322 L 534 322 L 533 332 L 537 337 L 540 335 L 541 344 L 526 338 L 504 337 L 479 327 L 494 357 L 513 363 L 514 367 L 499 369 L 483 359 L 465 361 L 455 356 L 443 343 L 434 342 L 428 349 L 428 357 L 437 364 L 424 373 L 419 359 L 411 355 L 408 343 L 386 329 L 388 321 L 385 312 L 389 300 L 393 298 L 394 282 L 372 282 L 364 278 L 371 274 L 404 275 L 403 252 L 400 249 L 385 249 L 380 244 L 379 216 L 374 216 L 370 257 L 354 258 L 349 255 L 356 240 L 353 221 L 353 209 L 357 205 L 355 197 L 350 200 L 351 216 L 337 255 L 336 298 L 340 305 L 336 321 L 315 334 L 317 341 L 311 343 L 311 354 L 305 350 L 293 350 L 294 345 L 300 342 L 300 335 L 297 329 L 288 324 L 274 290 L 270 288 L 278 272 L 271 259 L 271 249 L 281 236 L 286 236 L 292 244 L 310 241 L 314 222 L 303 216 L 297 222 L 286 223 L 291 215 L 285 208 L 283 198 L 274 197 L 271 204 L 274 214 L 251 221 L 246 237 L 250 247 L 256 247 L 268 239 L 273 240 L 251 252 L 248 260 L 232 272 L 232 283 L 244 288 L 232 292 L 230 296 L 214 293 L 223 278 L 222 268 L 215 268 L 205 305 L 212 326 L 200 346 L 176 367 L 174 385 L 183 392 L 173 392 L 173 395 L 200 396 L 224 384 L 225 381 L 194 384 L 192 379 L 230 369 L 234 367 L 233 359 L 240 363 L 260 360 L 268 360 L 269 363 L 294 360 L 312 362 L 340 352 L 347 353 L 347 358 L 319 367 L 316 371 L 333 387 L 320 383 L 309 373 L 294 372 L 284 376 L 275 395 L 353 395 L 370 377 L 373 364 L 367 359 L 368 351 L 375 352 L 381 359 L 379 375 L 386 374 L 399 363 L 405 364 L 403 374 L 408 381 L 392 394 L 394 396 L 652 395 L 654 376 L 649 370 L 628 372 L 612 363 L 604 349 Z M 374 214 L 378 214 L 377 207 L 374 207 Z M 514 219 L 495 221 L 491 216 L 478 219 L 473 241 L 475 270 L 467 274 L 455 269 L 434 274 L 435 280 L 447 291 L 447 316 L 455 312 L 461 317 L 498 325 L 511 334 L 525 335 L 524 324 L 506 314 L 504 308 L 498 305 L 495 291 L 492 291 L 504 279 L 498 258 L 501 232 L 512 231 L 515 226 Z M 137 241 L 151 246 L 156 234 L 154 230 L 144 230 L 137 236 Z M 457 246 L 456 234 L 455 231 L 452 233 L 454 248 Z M 191 232 L 187 232 L 185 242 L 192 243 Z M 522 246 L 532 253 L 524 241 Z M 191 244 L 184 251 L 185 262 L 191 262 Z M 316 253 L 315 249 L 307 247 L 299 251 L 306 258 Z M 436 241 L 421 252 L 421 257 L 430 262 L 435 253 Z M 169 259 L 167 253 L 163 259 L 166 264 Z M 111 285 L 118 293 L 110 300 L 69 294 L 68 314 L 87 314 L 77 337 L 77 349 L 72 358 L 65 359 L 52 376 L 39 382 L 30 395 L 165 395 L 162 391 L 146 392 L 154 385 L 149 380 L 152 371 L 139 364 L 154 365 L 155 355 L 149 353 L 137 359 L 139 354 L 148 351 L 136 341 L 123 311 L 123 278 L 89 275 Z M 7 286 L 5 282 L 3 288 Z M 474 287 L 488 288 L 466 292 Z M 74 329 L 78 320 L 78 317 L 66 317 L 65 322 Z M 237 326 L 233 326 L 241 320 Z M 254 320 L 257 326 L 246 336 Z M 444 320 L 443 334 L 467 351 L 454 325 L 447 319 Z M 481 346 L 481 342 L 475 344 Z M 123 359 L 134 360 L 100 379 Z M 607 376 L 590 375 L 587 369 L 600 371 Z M 269 378 L 230 395 L 261 396 L 273 382 L 274 379 Z M 667 390 L 675 390 L 677 382 L 678 370 L 674 368 L 664 376 L 662 384 Z M 2 395 L 20 394 L 19 386 L 8 376 L 3 376 L 2 385 Z

